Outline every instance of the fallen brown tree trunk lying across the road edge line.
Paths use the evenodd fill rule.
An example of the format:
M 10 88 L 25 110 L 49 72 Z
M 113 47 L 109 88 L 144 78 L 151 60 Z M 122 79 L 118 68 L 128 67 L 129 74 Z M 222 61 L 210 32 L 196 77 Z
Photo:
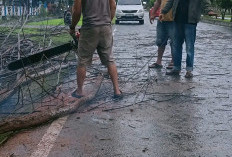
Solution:
M 58 117 L 75 112 L 80 105 L 83 105 L 84 103 L 92 100 L 95 97 L 96 93 L 98 92 L 98 89 L 101 86 L 102 81 L 103 81 L 103 76 L 102 75 L 97 76 L 96 81 L 91 88 L 91 92 L 88 93 L 87 96 L 82 97 L 80 99 L 75 99 L 71 101 L 65 100 L 65 98 L 67 98 L 68 95 L 60 94 L 59 99 L 57 98 L 54 101 L 57 101 L 55 102 L 56 104 L 59 103 L 63 105 L 57 105 L 56 108 L 52 110 L 41 108 L 40 110 L 37 110 L 36 112 L 31 113 L 29 115 L 25 115 L 17 118 L 8 118 L 1 121 L 0 134 L 8 131 L 16 131 L 20 129 L 30 128 L 33 126 L 38 126 L 50 120 L 54 120 Z

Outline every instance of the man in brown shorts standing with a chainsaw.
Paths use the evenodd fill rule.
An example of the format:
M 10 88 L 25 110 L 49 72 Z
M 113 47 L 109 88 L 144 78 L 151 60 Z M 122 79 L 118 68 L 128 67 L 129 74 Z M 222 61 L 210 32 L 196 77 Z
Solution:
M 122 98 L 118 86 L 117 67 L 113 58 L 113 35 L 111 21 L 114 18 L 116 4 L 114 0 L 75 0 L 72 14 L 70 34 L 75 34 L 75 27 L 83 15 L 83 25 L 78 43 L 77 90 L 73 97 L 84 96 L 83 84 L 86 67 L 92 63 L 95 50 L 103 65 L 107 66 L 114 88 L 114 98 Z

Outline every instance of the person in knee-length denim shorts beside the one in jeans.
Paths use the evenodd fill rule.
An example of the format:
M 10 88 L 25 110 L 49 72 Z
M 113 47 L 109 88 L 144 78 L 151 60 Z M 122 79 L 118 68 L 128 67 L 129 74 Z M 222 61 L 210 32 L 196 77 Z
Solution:
M 163 7 L 166 5 L 167 0 L 157 0 L 154 3 L 154 9 L 153 13 L 150 17 L 150 22 L 154 21 L 155 19 L 155 13 L 157 10 L 163 9 Z M 152 23 L 152 22 L 151 22 Z M 171 46 L 171 53 L 173 51 L 172 41 L 173 41 L 173 18 L 172 18 L 172 11 L 170 10 L 167 14 L 164 15 L 163 21 L 157 21 L 157 28 L 156 28 L 156 45 L 158 46 L 158 57 L 155 63 L 149 66 L 149 68 L 162 68 L 162 57 L 165 51 L 165 47 L 167 45 L 168 39 L 171 40 L 170 46 Z M 169 63 L 167 68 L 172 68 L 173 61 Z

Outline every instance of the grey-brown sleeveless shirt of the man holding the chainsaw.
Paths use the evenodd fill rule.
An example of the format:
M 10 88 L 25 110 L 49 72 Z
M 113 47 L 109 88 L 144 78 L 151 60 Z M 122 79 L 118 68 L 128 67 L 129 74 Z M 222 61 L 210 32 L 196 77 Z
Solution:
M 82 28 L 110 25 L 109 0 L 82 0 Z

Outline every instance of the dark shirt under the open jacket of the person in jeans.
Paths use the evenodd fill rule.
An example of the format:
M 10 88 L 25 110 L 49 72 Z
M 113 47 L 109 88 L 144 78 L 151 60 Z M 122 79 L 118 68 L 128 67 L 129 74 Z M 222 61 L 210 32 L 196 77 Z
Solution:
M 189 0 L 180 0 L 175 16 L 175 22 L 188 24 Z

